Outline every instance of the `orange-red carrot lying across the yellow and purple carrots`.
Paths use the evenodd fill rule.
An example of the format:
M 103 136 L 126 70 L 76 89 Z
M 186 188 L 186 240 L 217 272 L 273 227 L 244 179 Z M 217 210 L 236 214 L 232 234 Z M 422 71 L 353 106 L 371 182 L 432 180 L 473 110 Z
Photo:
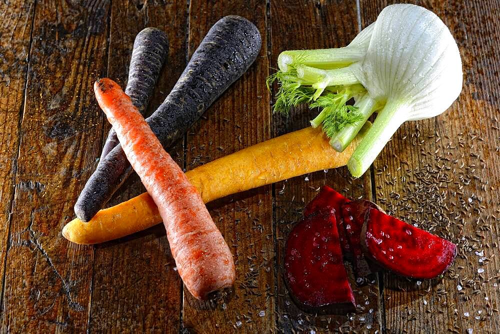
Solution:
M 94 92 L 128 161 L 158 206 L 178 273 L 189 292 L 206 299 L 210 292 L 232 286 L 232 254 L 196 188 L 118 84 L 100 79 Z

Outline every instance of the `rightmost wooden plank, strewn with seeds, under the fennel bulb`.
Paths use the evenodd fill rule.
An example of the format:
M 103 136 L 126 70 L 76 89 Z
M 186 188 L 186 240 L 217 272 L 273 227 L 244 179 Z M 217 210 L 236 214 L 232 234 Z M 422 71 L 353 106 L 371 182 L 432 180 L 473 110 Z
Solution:
M 492 1 L 417 4 L 436 13 L 455 37 L 463 90 L 445 114 L 404 124 L 394 135 L 375 161 L 376 197 L 394 215 L 458 243 L 459 257 L 442 280 L 418 285 L 386 275 L 387 331 L 498 332 L 493 308 L 498 308 L 500 262 L 492 256 L 498 253 L 494 222 L 500 216 L 500 91 L 494 75 L 500 63 L 494 51 L 500 45 L 499 6 Z M 386 5 L 362 1 L 364 23 Z M 480 263 L 482 256 L 491 259 Z

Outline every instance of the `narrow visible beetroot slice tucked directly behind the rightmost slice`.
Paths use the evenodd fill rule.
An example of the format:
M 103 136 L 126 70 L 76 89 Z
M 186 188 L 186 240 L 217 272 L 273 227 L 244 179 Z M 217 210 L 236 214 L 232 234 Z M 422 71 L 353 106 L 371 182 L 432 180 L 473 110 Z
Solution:
M 341 208 L 345 236 L 352 252 L 356 277 L 364 277 L 378 271 L 377 266 L 366 259 L 361 247 L 361 229 L 364 217 L 370 208 L 379 209 L 375 203 L 367 200 L 347 202 Z

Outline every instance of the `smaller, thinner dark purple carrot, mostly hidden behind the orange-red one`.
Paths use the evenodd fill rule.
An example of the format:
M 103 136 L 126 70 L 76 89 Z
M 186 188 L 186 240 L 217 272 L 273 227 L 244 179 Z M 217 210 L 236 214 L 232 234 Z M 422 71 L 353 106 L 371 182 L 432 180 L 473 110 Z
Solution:
M 133 105 L 142 115 L 147 108 L 167 54 L 168 38 L 161 30 L 145 28 L 135 36 L 125 94 L 130 97 Z M 100 154 L 99 164 L 118 144 L 116 132 L 113 129 L 109 130 Z

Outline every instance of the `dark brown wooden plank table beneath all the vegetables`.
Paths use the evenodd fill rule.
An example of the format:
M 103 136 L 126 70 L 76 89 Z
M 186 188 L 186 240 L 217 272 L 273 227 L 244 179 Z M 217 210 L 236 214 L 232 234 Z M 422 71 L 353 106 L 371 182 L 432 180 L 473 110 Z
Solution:
M 229 300 L 200 302 L 182 288 L 162 225 L 96 246 L 61 236 L 109 128 L 93 82 L 108 76 L 124 86 L 135 35 L 161 28 L 170 52 L 152 111 L 213 23 L 229 14 L 254 22 L 257 61 L 170 150 L 191 169 L 307 126 L 306 108 L 271 114 L 264 81 L 277 55 L 345 46 L 387 2 L 0 2 L 0 331 L 500 332 L 500 3 L 415 3 L 458 43 L 458 100 L 441 116 L 403 124 L 360 179 L 339 168 L 210 204 L 237 283 Z M 446 236 L 459 256 L 442 280 L 371 277 L 356 287 L 355 315 L 301 312 L 279 274 L 284 237 L 323 184 Z M 142 191 L 132 177 L 110 204 Z

